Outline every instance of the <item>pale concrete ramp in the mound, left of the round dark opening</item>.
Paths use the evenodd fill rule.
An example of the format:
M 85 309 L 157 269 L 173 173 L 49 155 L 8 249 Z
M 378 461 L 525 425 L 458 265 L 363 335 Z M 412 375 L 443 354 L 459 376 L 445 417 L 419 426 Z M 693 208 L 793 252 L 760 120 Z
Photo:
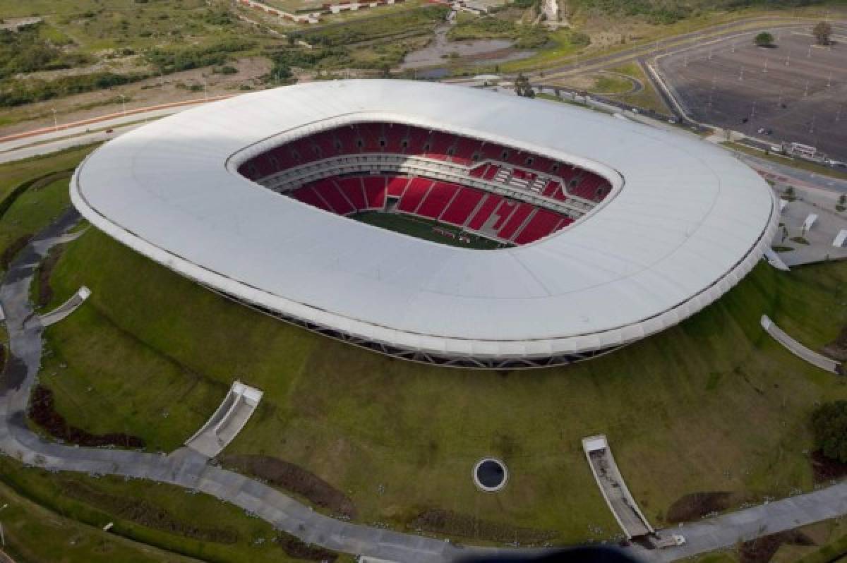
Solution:
M 262 400 L 262 391 L 235 381 L 217 411 L 206 421 L 185 446 L 206 457 L 218 455 L 235 439 Z

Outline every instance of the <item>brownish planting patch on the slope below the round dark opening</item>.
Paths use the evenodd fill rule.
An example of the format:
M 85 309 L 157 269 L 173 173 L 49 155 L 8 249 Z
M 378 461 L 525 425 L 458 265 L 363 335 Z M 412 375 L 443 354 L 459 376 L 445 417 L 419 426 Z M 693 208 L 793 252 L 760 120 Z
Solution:
M 475 516 L 437 509 L 421 512 L 409 527 L 461 538 L 487 539 L 495 542 L 540 544 L 556 538 L 556 532 L 531 527 L 514 527 L 500 522 L 480 520 Z

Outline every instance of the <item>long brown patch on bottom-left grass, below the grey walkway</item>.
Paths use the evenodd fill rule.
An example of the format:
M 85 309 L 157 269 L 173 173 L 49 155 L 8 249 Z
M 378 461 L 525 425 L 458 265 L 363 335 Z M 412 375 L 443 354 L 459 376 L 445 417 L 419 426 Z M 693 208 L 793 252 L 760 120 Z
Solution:
M 102 511 L 107 511 L 123 520 L 136 522 L 141 526 L 174 533 L 185 538 L 198 539 L 203 542 L 235 544 L 238 541 L 238 532 L 232 527 L 193 526 L 180 521 L 169 511 L 153 505 L 147 500 L 106 493 L 78 481 L 65 480 L 61 484 L 64 494 L 69 497 L 88 505 L 97 506 Z

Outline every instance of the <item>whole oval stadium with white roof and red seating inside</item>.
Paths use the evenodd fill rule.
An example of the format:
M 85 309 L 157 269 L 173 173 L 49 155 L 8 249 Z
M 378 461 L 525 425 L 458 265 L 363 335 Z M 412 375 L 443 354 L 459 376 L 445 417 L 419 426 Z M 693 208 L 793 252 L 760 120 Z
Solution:
M 71 197 L 219 294 L 451 367 L 559 365 L 656 334 L 737 284 L 778 225 L 764 180 L 693 136 L 401 80 L 147 124 L 87 157 Z

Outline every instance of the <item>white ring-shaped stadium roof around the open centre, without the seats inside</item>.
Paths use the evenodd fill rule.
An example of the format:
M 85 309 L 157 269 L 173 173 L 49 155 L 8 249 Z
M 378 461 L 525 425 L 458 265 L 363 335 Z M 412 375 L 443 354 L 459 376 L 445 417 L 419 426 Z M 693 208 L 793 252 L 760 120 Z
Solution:
M 356 121 L 490 139 L 593 169 L 615 191 L 555 235 L 476 251 L 343 218 L 236 172 Z M 178 113 L 92 153 L 71 195 L 108 235 L 282 317 L 426 356 L 512 362 L 608 350 L 680 322 L 753 268 L 778 223 L 764 180 L 693 135 L 401 80 L 288 86 Z

